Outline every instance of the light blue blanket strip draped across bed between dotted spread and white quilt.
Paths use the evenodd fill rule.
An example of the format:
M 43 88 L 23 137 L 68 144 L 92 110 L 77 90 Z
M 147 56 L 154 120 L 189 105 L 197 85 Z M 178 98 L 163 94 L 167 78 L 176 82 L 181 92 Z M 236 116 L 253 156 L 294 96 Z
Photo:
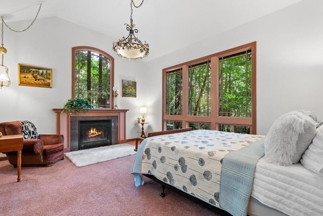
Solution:
M 232 215 L 246 215 L 257 161 L 264 155 L 264 138 L 228 153 L 220 179 L 220 206 Z

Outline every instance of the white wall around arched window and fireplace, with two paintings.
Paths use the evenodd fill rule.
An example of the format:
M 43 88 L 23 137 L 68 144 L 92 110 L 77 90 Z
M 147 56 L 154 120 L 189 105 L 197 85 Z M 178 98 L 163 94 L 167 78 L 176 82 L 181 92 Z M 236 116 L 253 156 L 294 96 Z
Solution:
M 26 28 L 30 21 L 13 22 L 17 30 Z M 125 32 L 126 33 L 126 32 Z M 122 35 L 120 35 L 122 36 Z M 63 108 L 71 98 L 71 64 L 74 46 L 93 46 L 106 51 L 115 58 L 115 85 L 121 89 L 122 79 L 137 81 L 137 97 L 117 98 L 119 109 L 127 112 L 127 137 L 140 136 L 140 127 L 135 125 L 139 107 L 143 104 L 144 64 L 119 58 L 112 50 L 111 38 L 58 18 L 37 19 L 33 26 L 16 33 L 4 28 L 4 46 L 8 53 L 4 65 L 9 68 L 11 86 L 0 90 L 0 121 L 29 120 L 38 133 L 55 133 L 55 113 L 52 108 Z M 52 88 L 18 85 L 18 63 L 52 69 Z M 138 133 L 137 133 L 138 131 Z

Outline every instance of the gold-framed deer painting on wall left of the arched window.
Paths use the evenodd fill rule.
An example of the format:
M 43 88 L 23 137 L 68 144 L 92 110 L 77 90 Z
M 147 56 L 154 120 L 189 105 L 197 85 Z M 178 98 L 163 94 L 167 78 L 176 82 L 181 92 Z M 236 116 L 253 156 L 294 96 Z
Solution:
M 18 64 L 18 85 L 51 88 L 52 70 Z

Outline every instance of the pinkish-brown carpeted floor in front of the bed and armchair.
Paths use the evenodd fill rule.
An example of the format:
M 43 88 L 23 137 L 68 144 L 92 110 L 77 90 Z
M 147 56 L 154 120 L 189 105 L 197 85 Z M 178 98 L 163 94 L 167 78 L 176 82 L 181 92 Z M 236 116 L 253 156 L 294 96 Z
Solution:
M 0 215 L 217 215 L 145 178 L 134 185 L 135 155 L 77 168 L 68 159 L 52 167 L 23 167 L 21 182 L 0 161 Z

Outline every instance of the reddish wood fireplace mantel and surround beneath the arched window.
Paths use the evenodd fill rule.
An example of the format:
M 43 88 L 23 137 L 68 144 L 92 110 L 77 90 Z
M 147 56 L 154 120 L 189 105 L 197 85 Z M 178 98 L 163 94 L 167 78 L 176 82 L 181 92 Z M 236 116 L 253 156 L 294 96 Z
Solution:
M 64 135 L 64 152 L 70 151 L 71 140 L 71 117 L 99 117 L 117 116 L 118 117 L 118 144 L 125 143 L 126 140 L 126 112 L 129 110 L 112 109 L 90 109 L 88 112 L 81 113 L 62 113 L 63 109 L 51 109 L 56 114 L 56 133 Z

